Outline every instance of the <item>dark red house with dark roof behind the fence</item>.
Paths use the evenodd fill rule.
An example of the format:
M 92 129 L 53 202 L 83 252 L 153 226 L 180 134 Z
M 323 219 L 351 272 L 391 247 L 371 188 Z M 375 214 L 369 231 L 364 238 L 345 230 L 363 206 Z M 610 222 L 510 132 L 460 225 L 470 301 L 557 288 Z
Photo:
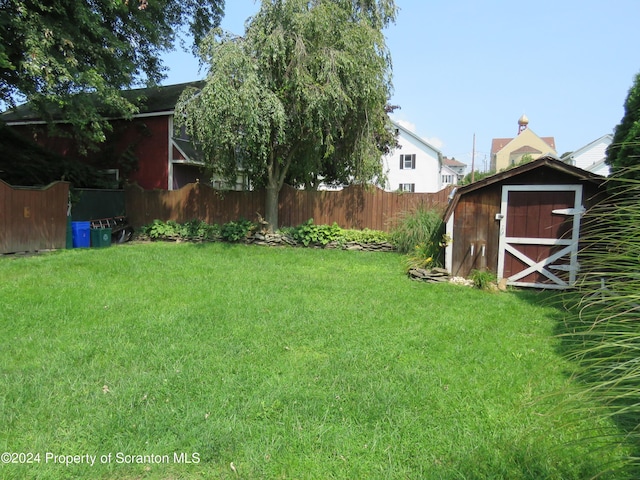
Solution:
M 46 123 L 28 105 L 4 112 L 0 120 L 47 149 L 75 157 L 100 168 L 118 184 L 137 183 L 144 189 L 173 190 L 200 179 L 204 162 L 191 142 L 174 131 L 173 117 L 180 94 L 190 82 L 123 92 L 135 101 L 139 113 L 132 119 L 110 119 L 113 128 L 98 152 L 78 153 L 70 138 L 49 136 Z M 242 189 L 236 185 L 236 189 Z M 231 186 L 233 188 L 234 186 Z

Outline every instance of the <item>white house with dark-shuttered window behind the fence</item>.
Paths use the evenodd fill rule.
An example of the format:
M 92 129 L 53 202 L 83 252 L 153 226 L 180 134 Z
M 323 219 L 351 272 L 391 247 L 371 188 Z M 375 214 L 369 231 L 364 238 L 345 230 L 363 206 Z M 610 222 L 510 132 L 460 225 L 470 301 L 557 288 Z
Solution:
M 399 123 L 393 124 L 398 148 L 382 159 L 386 191 L 429 193 L 458 183 L 456 172 L 444 165 L 440 150 Z

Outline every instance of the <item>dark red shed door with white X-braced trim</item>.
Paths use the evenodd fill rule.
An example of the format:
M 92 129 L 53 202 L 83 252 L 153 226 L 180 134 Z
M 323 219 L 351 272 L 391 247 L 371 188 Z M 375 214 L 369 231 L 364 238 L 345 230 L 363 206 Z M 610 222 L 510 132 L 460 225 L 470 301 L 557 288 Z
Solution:
M 582 185 L 502 187 L 498 278 L 524 287 L 572 286 L 583 212 Z

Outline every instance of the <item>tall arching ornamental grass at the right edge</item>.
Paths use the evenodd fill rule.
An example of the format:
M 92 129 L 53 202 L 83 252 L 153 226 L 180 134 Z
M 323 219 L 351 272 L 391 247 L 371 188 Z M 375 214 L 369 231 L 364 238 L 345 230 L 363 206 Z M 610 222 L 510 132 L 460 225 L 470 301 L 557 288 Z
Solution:
M 580 395 L 600 405 L 585 414 L 615 421 L 612 435 L 635 450 L 619 474 L 640 478 L 640 181 L 629 173 L 610 178 L 583 218 L 581 278 L 566 294 L 561 338 L 587 387 Z

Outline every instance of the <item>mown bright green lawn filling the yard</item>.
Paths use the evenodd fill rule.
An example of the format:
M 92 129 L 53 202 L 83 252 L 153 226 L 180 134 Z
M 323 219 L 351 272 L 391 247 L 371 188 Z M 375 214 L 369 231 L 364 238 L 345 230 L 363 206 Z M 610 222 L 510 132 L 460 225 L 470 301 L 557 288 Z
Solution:
M 588 440 L 610 425 L 555 411 L 571 365 L 545 294 L 402 265 L 220 243 L 0 258 L 0 452 L 25 454 L 0 477 L 584 479 L 618 461 Z

